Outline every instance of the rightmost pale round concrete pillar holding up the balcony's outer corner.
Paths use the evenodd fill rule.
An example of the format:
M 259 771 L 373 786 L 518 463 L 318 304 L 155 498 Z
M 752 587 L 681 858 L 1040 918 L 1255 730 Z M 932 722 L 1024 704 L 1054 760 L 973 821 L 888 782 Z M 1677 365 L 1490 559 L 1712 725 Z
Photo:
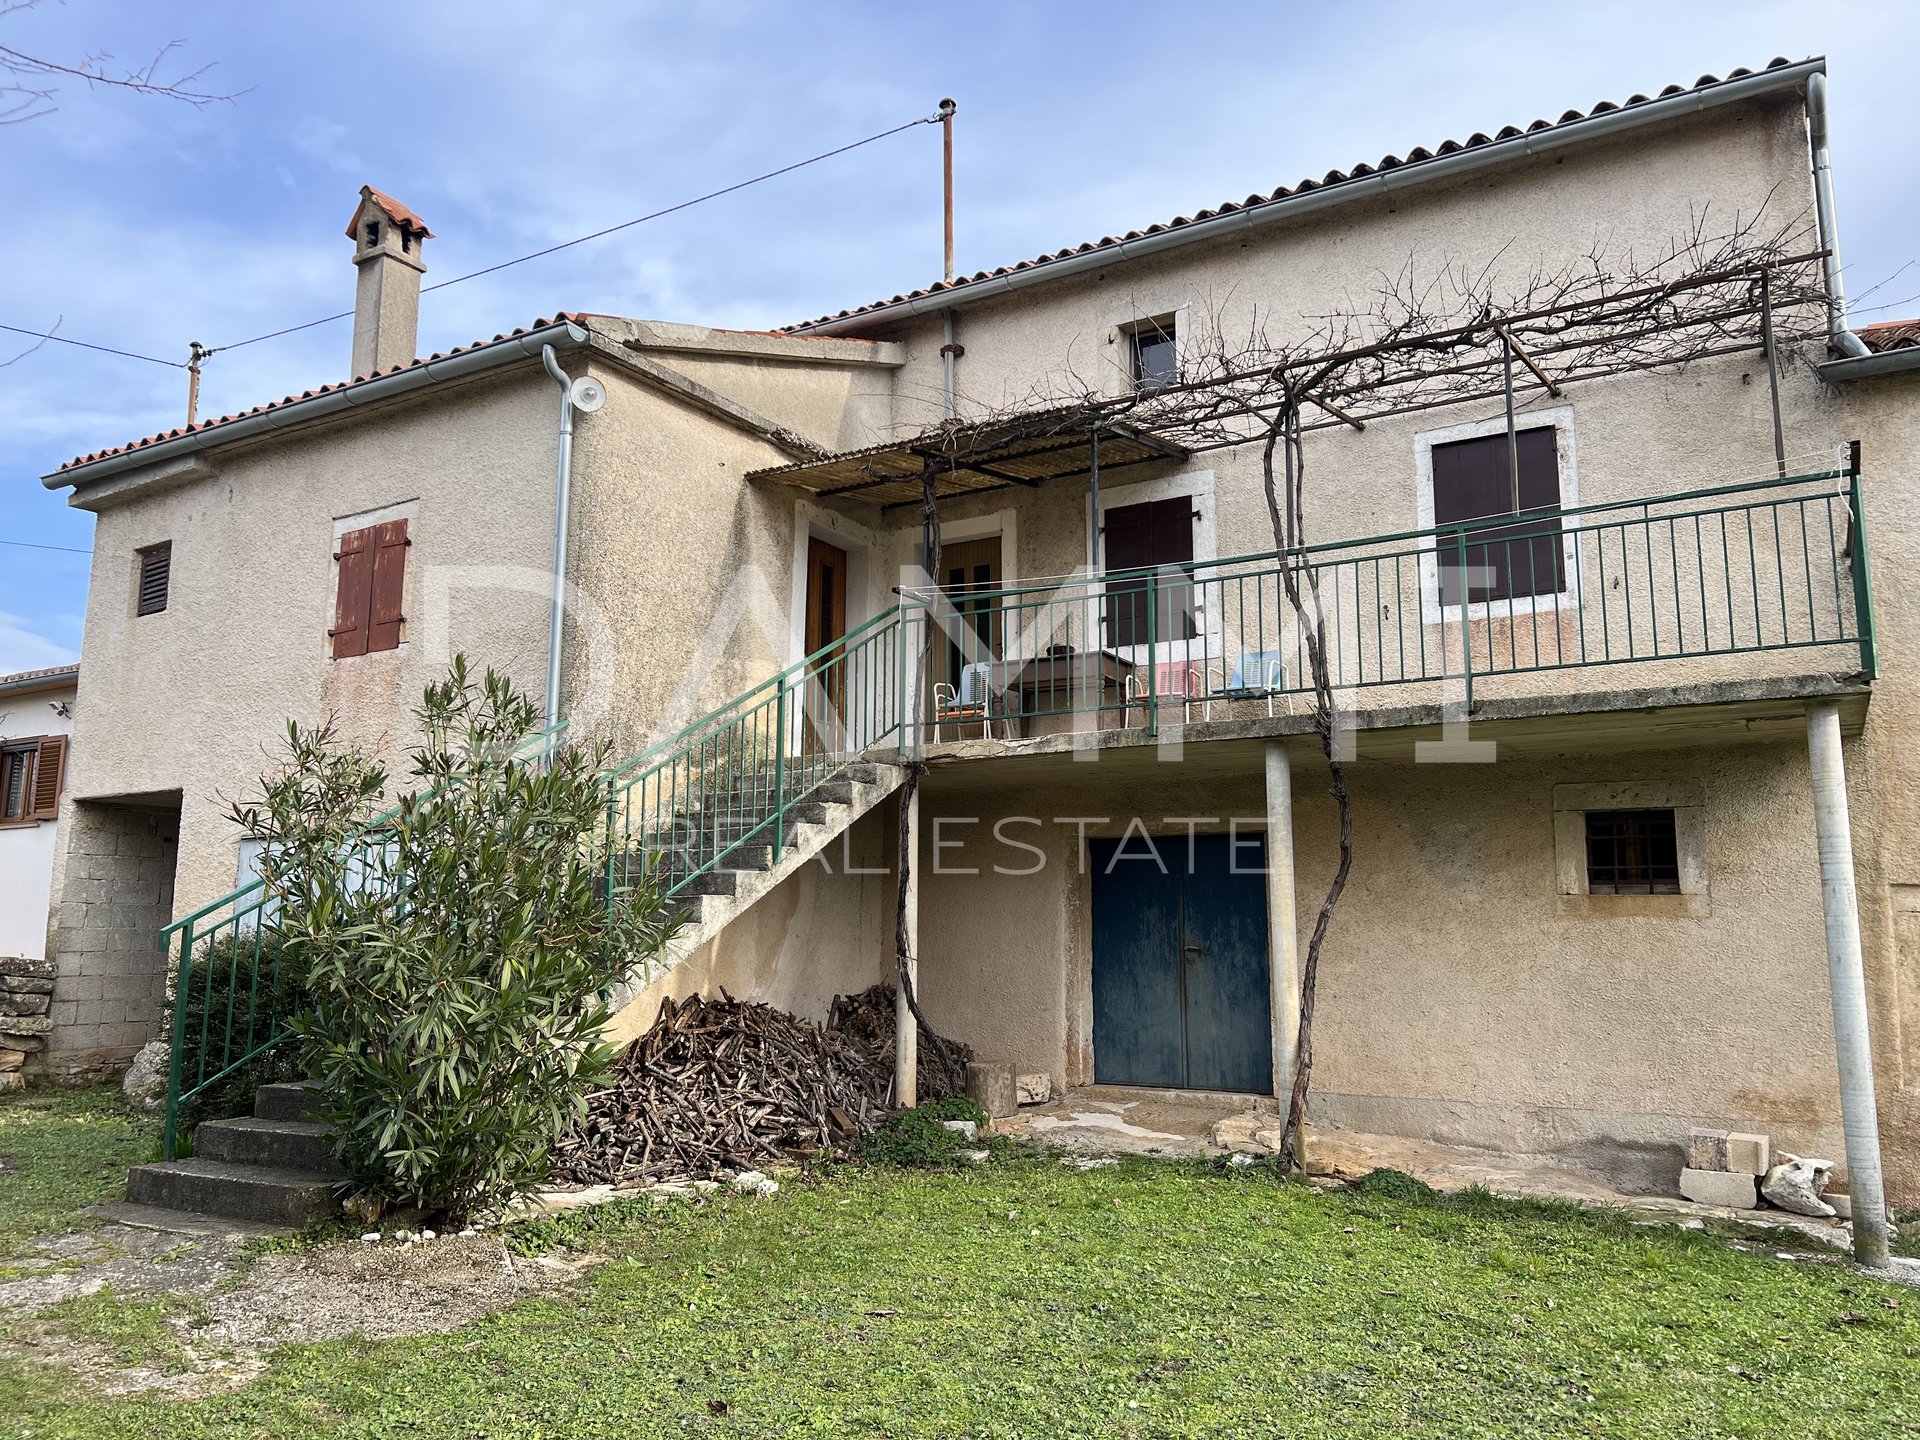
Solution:
M 1807 753 L 1812 762 L 1812 820 L 1826 904 L 1826 973 L 1834 995 L 1839 1110 L 1847 1133 L 1853 1258 L 1862 1265 L 1885 1265 L 1887 1200 L 1880 1177 L 1880 1112 L 1874 1104 L 1874 1052 L 1866 1035 L 1866 972 L 1860 964 L 1860 908 L 1853 889 L 1853 826 L 1847 814 L 1837 705 L 1814 705 L 1807 712 Z

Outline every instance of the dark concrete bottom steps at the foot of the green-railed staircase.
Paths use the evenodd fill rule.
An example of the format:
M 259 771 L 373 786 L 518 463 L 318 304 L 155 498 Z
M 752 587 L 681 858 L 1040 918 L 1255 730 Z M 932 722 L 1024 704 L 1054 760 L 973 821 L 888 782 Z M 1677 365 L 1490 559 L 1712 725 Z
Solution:
M 192 1160 L 127 1175 L 129 1204 L 296 1229 L 326 1219 L 340 1208 L 342 1171 L 313 1106 L 305 1085 L 261 1085 L 252 1116 L 194 1129 Z

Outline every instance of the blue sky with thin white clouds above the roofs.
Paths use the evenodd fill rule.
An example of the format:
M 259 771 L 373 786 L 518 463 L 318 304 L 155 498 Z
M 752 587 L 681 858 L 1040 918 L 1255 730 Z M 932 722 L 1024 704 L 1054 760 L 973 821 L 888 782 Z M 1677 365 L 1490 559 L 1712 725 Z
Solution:
M 188 108 L 61 84 L 0 125 L 0 324 L 184 359 L 351 305 L 355 192 L 436 232 L 428 282 L 960 102 L 960 267 L 979 269 L 1415 144 L 1830 60 L 1849 292 L 1920 311 L 1920 6 L 568 4 L 44 0 L 0 44 L 209 65 Z M 774 326 L 939 273 L 918 127 L 564 255 L 428 296 L 420 349 L 555 309 Z M 1901 267 L 1910 267 L 1901 273 Z M 1882 284 L 1884 282 L 1884 284 Z M 1910 305 L 1908 305 L 1910 301 Z M 1905 305 L 1905 307 L 1903 307 Z M 204 413 L 348 371 L 346 323 L 207 363 Z M 0 361 L 31 340 L 0 332 Z M 184 374 L 46 344 L 0 367 L 0 672 L 81 645 L 92 516 L 38 476 L 179 424 Z M 29 545 L 69 547 L 33 549 Z

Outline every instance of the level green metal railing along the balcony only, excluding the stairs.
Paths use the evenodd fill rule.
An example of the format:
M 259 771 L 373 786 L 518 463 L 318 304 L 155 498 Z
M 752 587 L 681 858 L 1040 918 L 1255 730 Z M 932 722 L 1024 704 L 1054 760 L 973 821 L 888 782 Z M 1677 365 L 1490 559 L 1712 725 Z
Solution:
M 1313 689 L 1286 599 L 1292 564 L 1319 588 L 1336 691 L 1455 691 L 1653 660 L 1841 647 L 1874 674 L 1855 463 L 1659 499 L 1490 516 L 1390 536 L 1048 586 L 916 595 L 931 612 L 929 737 L 1158 730 Z M 1309 599 L 1311 605 L 1311 599 Z M 1707 666 L 1732 674 L 1740 666 Z M 1225 708 L 1223 708 L 1225 707 Z M 1240 707 L 1236 710 L 1235 707 Z M 1062 726 L 1066 722 L 1066 726 Z

